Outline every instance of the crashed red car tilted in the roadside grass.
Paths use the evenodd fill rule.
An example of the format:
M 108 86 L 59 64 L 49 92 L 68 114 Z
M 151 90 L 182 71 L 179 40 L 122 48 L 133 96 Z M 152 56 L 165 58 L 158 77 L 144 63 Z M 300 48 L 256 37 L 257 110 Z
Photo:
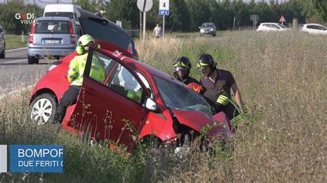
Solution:
M 184 143 L 184 135 L 219 135 L 226 138 L 230 122 L 224 113 L 212 116 L 207 101 L 186 85 L 159 69 L 131 58 L 115 45 L 96 40 L 101 49 L 90 47 L 83 85 L 76 105 L 68 107 L 62 127 L 85 134 L 92 140 L 125 144 L 130 151 L 135 140 L 155 136 L 160 142 Z M 70 83 L 67 72 L 72 53 L 54 63 L 39 80 L 30 97 L 31 118 L 43 125 L 52 122 L 61 96 Z M 92 62 L 103 63 L 106 78 L 92 78 Z M 209 126 L 211 125 L 211 126 Z M 182 140 L 177 140 L 177 134 Z M 137 138 L 135 138 L 137 137 Z

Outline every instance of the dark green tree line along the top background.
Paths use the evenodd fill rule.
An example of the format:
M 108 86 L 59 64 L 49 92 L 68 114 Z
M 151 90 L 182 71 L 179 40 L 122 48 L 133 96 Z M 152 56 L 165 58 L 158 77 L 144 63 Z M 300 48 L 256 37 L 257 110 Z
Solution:
M 104 17 L 111 21 L 122 21 L 123 28 L 139 29 L 140 12 L 137 0 L 111 0 L 103 3 L 89 0 L 77 0 L 83 9 L 91 12 L 103 10 Z M 28 32 L 30 24 L 21 23 L 15 18 L 19 12 L 33 13 L 35 17 L 42 16 L 43 9 L 36 5 L 24 6 L 21 1 L 10 1 L 6 5 L 0 4 L 0 24 L 9 33 L 21 34 Z M 147 27 L 154 28 L 162 22 L 158 15 L 159 0 L 153 0 L 152 9 L 147 12 Z M 198 31 L 201 23 L 213 22 L 219 30 L 246 28 L 253 25 L 250 14 L 258 14 L 261 22 L 278 22 L 284 15 L 286 24 L 297 19 L 298 23 L 327 22 L 327 1 L 321 0 L 289 0 L 279 3 L 277 0 L 244 3 L 241 0 L 172 0 L 170 1 L 170 15 L 166 17 L 166 30 L 179 32 Z

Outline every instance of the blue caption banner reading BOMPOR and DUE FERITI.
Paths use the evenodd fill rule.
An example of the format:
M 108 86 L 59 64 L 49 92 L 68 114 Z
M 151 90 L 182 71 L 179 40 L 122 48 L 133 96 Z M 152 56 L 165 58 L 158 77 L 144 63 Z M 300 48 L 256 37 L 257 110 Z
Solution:
M 10 145 L 10 172 L 63 172 L 61 145 Z

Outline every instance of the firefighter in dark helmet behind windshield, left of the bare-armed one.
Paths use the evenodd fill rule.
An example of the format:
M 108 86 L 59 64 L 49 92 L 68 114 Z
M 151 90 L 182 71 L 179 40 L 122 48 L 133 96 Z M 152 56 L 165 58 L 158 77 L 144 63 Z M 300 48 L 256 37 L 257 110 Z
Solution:
M 190 63 L 190 60 L 186 56 L 181 56 L 177 58 L 174 63 L 174 78 L 181 81 L 181 83 L 184 83 L 185 85 L 188 85 L 190 83 L 197 83 L 199 85 L 200 83 L 198 80 L 190 77 L 191 67 L 192 65 Z

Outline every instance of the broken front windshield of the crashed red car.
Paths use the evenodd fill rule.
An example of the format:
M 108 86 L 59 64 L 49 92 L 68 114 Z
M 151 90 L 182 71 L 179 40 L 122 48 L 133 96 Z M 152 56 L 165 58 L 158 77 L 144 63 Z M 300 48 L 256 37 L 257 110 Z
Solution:
M 154 76 L 161 98 L 167 107 L 181 111 L 203 111 L 212 116 L 210 105 L 187 87 Z

